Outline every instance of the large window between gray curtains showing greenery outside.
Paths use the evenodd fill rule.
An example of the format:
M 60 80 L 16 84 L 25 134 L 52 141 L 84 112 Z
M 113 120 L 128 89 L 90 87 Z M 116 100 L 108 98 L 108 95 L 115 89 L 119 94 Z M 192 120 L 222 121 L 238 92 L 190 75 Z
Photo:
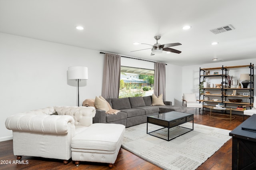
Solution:
M 154 70 L 121 66 L 119 98 L 154 93 Z

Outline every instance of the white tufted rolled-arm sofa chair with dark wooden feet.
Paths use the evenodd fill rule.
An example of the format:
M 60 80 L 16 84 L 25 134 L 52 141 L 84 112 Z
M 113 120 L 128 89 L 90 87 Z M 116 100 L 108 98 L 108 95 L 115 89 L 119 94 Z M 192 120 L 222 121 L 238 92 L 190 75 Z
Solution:
M 58 115 L 51 115 L 57 112 Z M 38 156 L 64 160 L 71 158 L 71 140 L 90 125 L 94 107 L 56 106 L 17 113 L 6 119 L 13 132 L 13 152 L 22 156 Z

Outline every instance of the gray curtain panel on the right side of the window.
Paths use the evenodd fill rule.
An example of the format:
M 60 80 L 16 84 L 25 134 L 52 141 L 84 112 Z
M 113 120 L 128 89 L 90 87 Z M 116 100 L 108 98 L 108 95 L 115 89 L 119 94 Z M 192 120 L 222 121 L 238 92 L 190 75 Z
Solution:
M 163 100 L 166 100 L 165 94 L 165 63 L 155 63 L 154 75 L 154 94 L 158 97 L 163 94 Z

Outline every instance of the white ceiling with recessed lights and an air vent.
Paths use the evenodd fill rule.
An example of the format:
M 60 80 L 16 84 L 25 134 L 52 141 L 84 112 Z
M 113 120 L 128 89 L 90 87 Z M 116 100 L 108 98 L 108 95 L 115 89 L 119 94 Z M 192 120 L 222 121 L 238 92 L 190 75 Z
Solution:
M 0 32 L 175 65 L 256 57 L 255 0 L 0 0 Z M 213 34 L 232 24 L 235 30 Z M 84 30 L 76 30 L 76 26 Z M 182 30 L 190 25 L 190 30 Z M 150 56 L 154 36 L 182 53 Z M 211 45 L 212 42 L 219 42 Z

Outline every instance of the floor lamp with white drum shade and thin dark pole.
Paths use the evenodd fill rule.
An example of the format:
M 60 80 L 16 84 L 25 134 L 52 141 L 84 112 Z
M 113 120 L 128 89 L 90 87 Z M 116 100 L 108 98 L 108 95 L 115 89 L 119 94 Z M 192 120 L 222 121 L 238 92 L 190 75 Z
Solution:
M 88 68 L 80 66 L 68 67 L 68 79 L 77 80 L 79 106 L 79 81 L 88 79 Z

